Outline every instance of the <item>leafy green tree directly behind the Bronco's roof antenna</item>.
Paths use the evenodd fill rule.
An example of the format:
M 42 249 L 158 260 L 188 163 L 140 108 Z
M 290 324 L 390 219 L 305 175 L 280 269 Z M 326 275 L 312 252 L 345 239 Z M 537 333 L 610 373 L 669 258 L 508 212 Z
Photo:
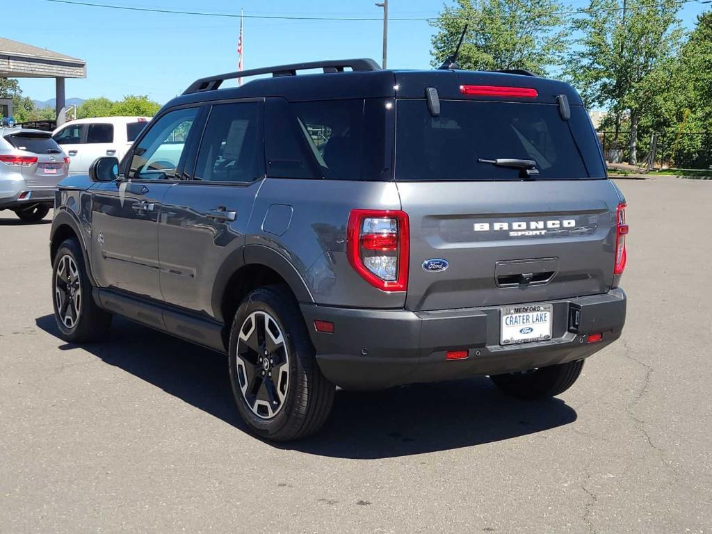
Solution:
M 545 74 L 562 63 L 570 31 L 557 0 L 457 0 L 432 23 L 433 66 L 454 52 L 468 30 L 458 64 L 467 70 L 523 68 Z

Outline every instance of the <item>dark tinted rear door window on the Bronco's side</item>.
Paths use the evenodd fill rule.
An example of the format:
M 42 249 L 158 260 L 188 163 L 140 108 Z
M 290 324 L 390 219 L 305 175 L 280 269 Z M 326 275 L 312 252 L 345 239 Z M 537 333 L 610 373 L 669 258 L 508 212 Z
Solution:
M 205 126 L 194 179 L 253 182 L 262 174 L 262 103 L 214 105 Z

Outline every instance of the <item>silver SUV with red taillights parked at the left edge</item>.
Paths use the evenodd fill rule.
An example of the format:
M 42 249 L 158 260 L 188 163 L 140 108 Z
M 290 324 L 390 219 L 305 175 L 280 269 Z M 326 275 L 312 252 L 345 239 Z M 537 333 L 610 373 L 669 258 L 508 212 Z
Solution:
M 69 158 L 50 132 L 0 127 L 0 210 L 11 209 L 23 221 L 40 221 L 68 169 Z

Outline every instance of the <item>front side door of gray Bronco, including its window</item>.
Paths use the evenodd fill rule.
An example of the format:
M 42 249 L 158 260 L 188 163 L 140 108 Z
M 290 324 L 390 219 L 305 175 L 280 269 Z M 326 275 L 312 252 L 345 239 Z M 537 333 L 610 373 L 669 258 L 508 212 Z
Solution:
M 198 112 L 180 108 L 161 115 L 122 161 L 120 179 L 93 187 L 92 267 L 101 287 L 162 300 L 157 222 L 182 172 Z

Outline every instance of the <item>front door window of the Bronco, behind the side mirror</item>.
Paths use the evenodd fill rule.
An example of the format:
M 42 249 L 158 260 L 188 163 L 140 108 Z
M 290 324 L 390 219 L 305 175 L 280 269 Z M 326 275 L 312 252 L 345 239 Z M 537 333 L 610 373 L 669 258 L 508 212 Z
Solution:
M 127 177 L 177 179 L 177 169 L 198 108 L 175 110 L 151 123 L 135 147 Z

